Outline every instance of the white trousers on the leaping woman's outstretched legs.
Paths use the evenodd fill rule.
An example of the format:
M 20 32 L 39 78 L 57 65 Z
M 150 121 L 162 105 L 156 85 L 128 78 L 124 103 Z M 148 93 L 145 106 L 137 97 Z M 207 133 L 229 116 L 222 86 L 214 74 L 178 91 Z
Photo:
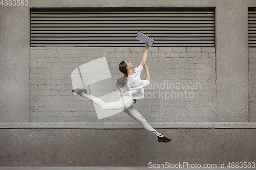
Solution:
M 93 101 L 95 104 L 97 104 L 103 110 L 119 110 L 119 109 L 121 109 L 125 113 L 130 115 L 132 118 L 137 120 L 142 125 L 142 127 L 144 129 L 151 131 L 154 134 L 157 133 L 157 131 L 146 122 L 146 119 L 139 113 L 139 111 L 133 107 L 133 105 L 135 104 L 135 101 L 133 99 L 131 99 L 128 95 L 123 96 L 117 102 L 111 102 L 111 103 L 105 103 L 101 99 L 96 98 L 93 95 L 90 95 L 89 100 Z

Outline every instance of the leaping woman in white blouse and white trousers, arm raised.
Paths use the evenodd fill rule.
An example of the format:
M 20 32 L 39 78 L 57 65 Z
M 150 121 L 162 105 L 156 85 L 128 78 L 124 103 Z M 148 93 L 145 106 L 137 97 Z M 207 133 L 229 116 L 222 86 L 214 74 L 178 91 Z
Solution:
M 141 59 L 141 63 L 138 67 L 134 68 L 133 63 L 128 61 L 122 61 L 119 64 L 119 70 L 124 74 L 124 77 L 117 80 L 116 86 L 120 90 L 121 99 L 117 102 L 105 103 L 101 99 L 96 98 L 93 95 L 87 94 L 86 89 L 74 89 L 73 92 L 86 98 L 97 104 L 103 110 L 118 110 L 122 109 L 125 113 L 129 114 L 132 118 L 137 120 L 144 129 L 151 131 L 158 137 L 159 142 L 169 142 L 170 139 L 166 138 L 163 134 L 157 132 L 152 128 L 147 122 L 146 119 L 135 109 L 133 106 L 137 100 L 144 98 L 144 87 L 148 84 L 151 84 L 150 72 L 146 66 L 146 58 L 148 45 L 145 44 L 144 55 Z M 142 69 L 146 70 L 146 80 L 140 79 L 140 74 Z

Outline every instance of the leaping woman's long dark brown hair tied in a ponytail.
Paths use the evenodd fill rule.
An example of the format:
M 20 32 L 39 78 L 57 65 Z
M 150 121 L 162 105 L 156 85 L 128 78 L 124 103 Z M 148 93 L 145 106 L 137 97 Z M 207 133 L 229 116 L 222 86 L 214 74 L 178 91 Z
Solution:
M 129 90 L 129 87 L 127 86 L 127 64 L 125 63 L 125 61 L 120 62 L 119 64 L 119 70 L 124 74 L 124 77 L 117 79 L 116 81 L 116 87 L 120 90 L 121 88 L 123 88 L 125 91 Z

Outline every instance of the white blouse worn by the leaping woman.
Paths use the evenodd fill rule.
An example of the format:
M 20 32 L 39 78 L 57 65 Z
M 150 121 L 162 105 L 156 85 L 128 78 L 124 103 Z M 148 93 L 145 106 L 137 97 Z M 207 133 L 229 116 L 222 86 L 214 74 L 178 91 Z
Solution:
M 144 98 L 144 87 L 150 84 L 148 80 L 141 80 L 140 74 L 143 70 L 143 66 L 139 65 L 134 68 L 133 75 L 127 77 L 127 85 L 129 86 L 129 91 L 122 91 L 122 95 L 129 95 L 132 99 L 142 99 Z

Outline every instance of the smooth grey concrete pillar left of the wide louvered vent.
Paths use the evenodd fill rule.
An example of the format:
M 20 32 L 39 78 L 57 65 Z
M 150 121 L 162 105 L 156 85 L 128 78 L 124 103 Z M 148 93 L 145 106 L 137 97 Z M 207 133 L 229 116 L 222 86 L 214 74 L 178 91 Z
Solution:
M 0 13 L 1 121 L 29 122 L 29 8 L 1 5 Z

